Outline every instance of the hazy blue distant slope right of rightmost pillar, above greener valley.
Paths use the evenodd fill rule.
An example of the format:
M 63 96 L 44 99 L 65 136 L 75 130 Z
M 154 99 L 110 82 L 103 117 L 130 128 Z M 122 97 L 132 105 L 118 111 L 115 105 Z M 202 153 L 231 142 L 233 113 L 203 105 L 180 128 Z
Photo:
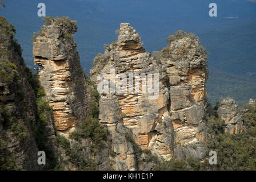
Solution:
M 256 73 L 256 21 L 198 36 L 210 53 L 208 65 L 211 67 L 239 75 Z

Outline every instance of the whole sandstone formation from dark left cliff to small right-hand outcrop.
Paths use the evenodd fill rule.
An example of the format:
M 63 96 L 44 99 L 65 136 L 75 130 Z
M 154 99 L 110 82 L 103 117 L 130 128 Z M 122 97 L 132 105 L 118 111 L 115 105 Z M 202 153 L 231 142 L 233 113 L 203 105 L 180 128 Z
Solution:
M 177 31 L 151 56 L 135 29 L 121 23 L 117 41 L 95 57 L 89 80 L 79 63 L 75 22 L 45 18 L 33 37 L 38 71 L 32 77 L 14 27 L 0 20 L 1 167 L 14 161 L 5 167 L 42 169 L 37 152 L 46 148 L 65 170 L 150 170 L 159 159 L 205 159 L 206 118 L 214 111 L 206 99 L 207 52 L 195 35 Z M 37 77 L 46 96 L 35 92 Z M 38 113 L 48 105 L 40 101 L 53 112 Z M 243 114 L 233 99 L 218 102 L 214 114 L 227 133 L 241 133 Z

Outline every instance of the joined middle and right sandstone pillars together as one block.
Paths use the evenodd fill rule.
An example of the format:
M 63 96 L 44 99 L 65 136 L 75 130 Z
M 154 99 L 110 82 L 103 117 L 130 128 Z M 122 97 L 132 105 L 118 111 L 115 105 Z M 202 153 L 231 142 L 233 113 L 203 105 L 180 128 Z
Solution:
M 189 51 L 185 52 L 183 49 L 187 47 Z M 123 126 L 131 130 L 135 143 L 142 149 L 150 150 L 158 158 L 170 159 L 178 154 L 174 151 L 177 144 L 182 153 L 180 158 L 190 154 L 196 154 L 195 158 L 203 158 L 205 147 L 202 142 L 206 139 L 203 118 L 207 105 L 207 55 L 199 46 L 198 38 L 186 33 L 183 38 L 171 42 L 167 52 L 171 56 L 152 57 L 143 49 L 141 38 L 134 28 L 129 23 L 121 23 L 117 42 L 107 46 L 103 55 L 95 57 L 90 71 L 91 80 L 96 84 L 102 81 L 101 77 L 98 78 L 101 73 L 105 73 L 109 79 L 113 78 L 111 69 L 115 69 L 115 74 L 123 73 L 127 77 L 126 93 L 101 94 L 100 122 L 108 126 L 113 136 L 118 133 L 118 123 L 123 123 Z M 150 99 L 149 92 L 128 92 L 129 73 L 158 73 L 158 97 Z M 117 78 L 112 82 L 122 85 Z M 127 142 L 116 141 L 123 144 Z M 193 143 L 196 144 L 190 150 L 186 147 L 182 149 Z M 124 146 L 122 151 L 115 149 L 115 152 L 119 159 L 124 159 L 123 166 L 117 164 L 116 169 L 136 169 L 133 167 L 136 159 L 129 147 Z

